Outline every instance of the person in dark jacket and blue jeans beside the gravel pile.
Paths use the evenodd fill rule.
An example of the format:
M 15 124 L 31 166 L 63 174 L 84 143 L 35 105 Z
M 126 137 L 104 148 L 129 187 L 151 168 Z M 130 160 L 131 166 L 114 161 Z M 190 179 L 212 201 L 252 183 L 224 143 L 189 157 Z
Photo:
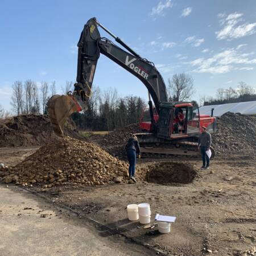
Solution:
M 129 179 L 136 182 L 135 167 L 136 167 L 136 154 L 141 158 L 141 150 L 136 135 L 133 135 L 127 142 L 126 146 L 127 159 L 129 161 Z

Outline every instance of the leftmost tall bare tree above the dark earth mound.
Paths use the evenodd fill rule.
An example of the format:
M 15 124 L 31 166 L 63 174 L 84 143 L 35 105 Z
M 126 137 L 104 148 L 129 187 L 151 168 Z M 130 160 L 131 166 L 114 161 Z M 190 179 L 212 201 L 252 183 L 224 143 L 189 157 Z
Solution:
M 23 101 L 23 86 L 21 81 L 15 81 L 13 86 L 13 96 L 11 96 L 11 105 L 14 112 L 19 115 L 23 114 L 24 101 Z

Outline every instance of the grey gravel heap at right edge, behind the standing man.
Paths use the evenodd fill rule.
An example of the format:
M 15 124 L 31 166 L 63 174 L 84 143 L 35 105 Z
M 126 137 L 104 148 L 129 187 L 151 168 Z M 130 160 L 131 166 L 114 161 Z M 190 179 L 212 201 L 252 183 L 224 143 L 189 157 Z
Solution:
M 254 152 L 256 150 L 256 119 L 248 115 L 225 113 L 217 118 L 217 131 L 212 142 L 218 153 Z

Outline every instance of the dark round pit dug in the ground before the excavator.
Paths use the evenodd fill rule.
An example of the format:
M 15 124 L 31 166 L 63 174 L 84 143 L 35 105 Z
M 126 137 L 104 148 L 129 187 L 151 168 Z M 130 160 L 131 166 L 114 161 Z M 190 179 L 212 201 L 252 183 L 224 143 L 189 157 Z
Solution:
M 156 184 L 188 184 L 195 179 L 197 171 L 184 163 L 158 163 L 151 166 L 146 181 Z

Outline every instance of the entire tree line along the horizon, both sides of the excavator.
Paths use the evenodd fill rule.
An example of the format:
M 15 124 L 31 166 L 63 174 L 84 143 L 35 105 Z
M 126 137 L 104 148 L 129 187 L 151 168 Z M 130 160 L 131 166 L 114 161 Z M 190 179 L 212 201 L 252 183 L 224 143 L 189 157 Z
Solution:
M 73 82 L 66 81 L 61 87 L 63 94 L 72 90 Z M 48 101 L 56 94 L 56 82 L 42 81 L 40 84 L 32 80 L 15 81 L 11 97 L 13 112 L 19 114 L 47 114 Z M 188 101 L 195 95 L 192 76 L 186 73 L 175 74 L 168 79 L 168 101 Z M 241 101 L 255 101 L 256 90 L 252 86 L 240 82 L 234 89 L 217 89 L 216 97 L 200 97 L 200 104 L 195 100 L 191 102 L 196 106 L 225 104 Z M 115 89 L 109 88 L 101 91 L 93 85 L 93 93 L 89 99 L 86 112 L 74 113 L 72 119 L 82 130 L 114 130 L 119 127 L 139 122 L 141 113 L 147 102 L 141 97 L 119 97 Z M 0 107 L 0 118 L 7 112 Z

